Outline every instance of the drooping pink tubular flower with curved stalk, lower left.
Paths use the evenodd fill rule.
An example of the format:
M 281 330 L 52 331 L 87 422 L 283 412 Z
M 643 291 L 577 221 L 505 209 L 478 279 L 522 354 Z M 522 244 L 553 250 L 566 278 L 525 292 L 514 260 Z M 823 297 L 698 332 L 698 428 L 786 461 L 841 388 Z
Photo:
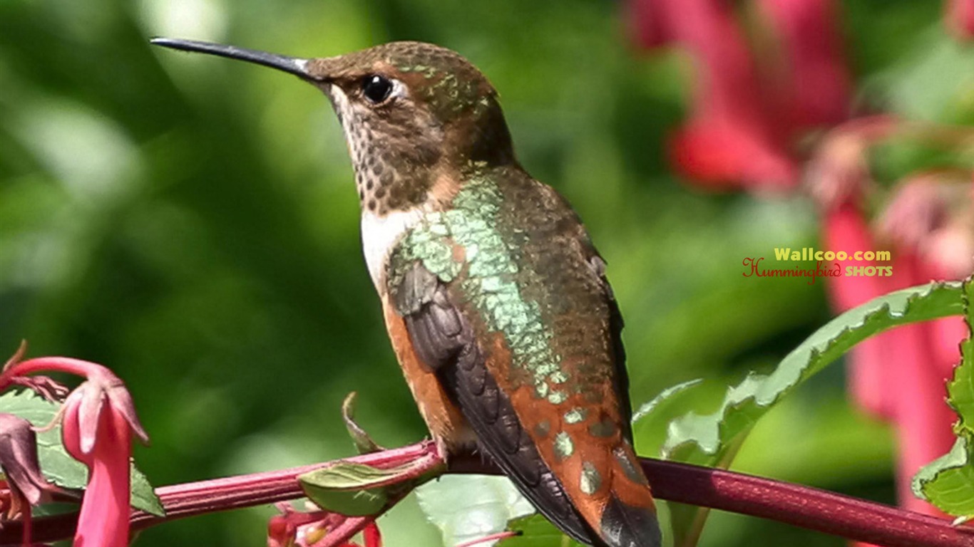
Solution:
M 78 359 L 42 357 L 8 363 L 0 388 L 40 371 L 84 376 L 64 402 L 61 438 L 68 454 L 88 465 L 75 547 L 126 547 L 129 544 L 131 434 L 148 436 L 135 416 L 125 384 L 107 368 Z

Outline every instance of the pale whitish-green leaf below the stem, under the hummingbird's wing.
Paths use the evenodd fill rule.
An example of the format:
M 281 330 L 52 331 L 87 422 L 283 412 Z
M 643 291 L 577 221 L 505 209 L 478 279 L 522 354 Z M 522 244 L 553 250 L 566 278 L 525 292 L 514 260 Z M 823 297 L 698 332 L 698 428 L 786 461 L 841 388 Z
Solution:
M 504 531 L 512 519 L 535 512 L 506 477 L 446 475 L 417 489 L 416 495 L 444 545 Z

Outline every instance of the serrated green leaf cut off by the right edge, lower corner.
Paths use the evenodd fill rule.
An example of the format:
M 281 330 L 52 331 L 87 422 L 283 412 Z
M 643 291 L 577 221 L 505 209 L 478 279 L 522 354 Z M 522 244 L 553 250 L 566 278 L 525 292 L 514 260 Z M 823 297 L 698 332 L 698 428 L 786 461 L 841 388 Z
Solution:
M 964 285 L 964 320 L 967 339 L 960 344 L 960 364 L 947 383 L 947 402 L 960 420 L 955 424 L 957 440 L 951 452 L 923 466 L 914 476 L 913 491 L 951 515 L 974 515 L 974 282 Z

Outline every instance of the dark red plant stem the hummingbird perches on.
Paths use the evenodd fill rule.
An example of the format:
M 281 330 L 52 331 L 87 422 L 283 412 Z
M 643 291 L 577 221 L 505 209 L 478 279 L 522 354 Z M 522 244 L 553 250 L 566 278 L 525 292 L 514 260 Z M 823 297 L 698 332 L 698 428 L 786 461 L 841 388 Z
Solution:
M 376 466 L 394 465 L 409 457 L 428 456 L 430 450 L 429 443 L 419 443 L 347 460 Z M 157 489 L 167 516 L 155 517 L 136 511 L 132 514 L 132 529 L 301 497 L 304 494 L 294 478 L 326 464 Z M 478 456 L 451 459 L 450 469 L 460 473 L 498 473 Z M 644 458 L 643 469 L 660 499 L 762 517 L 887 547 L 974 547 L 972 529 L 954 527 L 947 520 L 872 501 L 672 461 Z M 34 541 L 50 542 L 70 537 L 76 519 L 76 513 L 35 519 Z M 19 543 L 20 530 L 19 522 L 5 523 L 0 529 L 0 544 Z

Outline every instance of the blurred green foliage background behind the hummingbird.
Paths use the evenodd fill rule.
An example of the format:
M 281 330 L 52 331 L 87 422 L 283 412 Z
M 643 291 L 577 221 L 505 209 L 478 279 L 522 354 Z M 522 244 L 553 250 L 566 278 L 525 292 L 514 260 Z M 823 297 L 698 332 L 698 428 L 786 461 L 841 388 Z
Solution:
M 863 101 L 925 96 L 897 75 L 951 47 L 940 11 L 843 3 Z M 633 400 L 703 378 L 677 410 L 712 410 L 727 383 L 828 320 L 821 281 L 741 275 L 745 257 L 814 244 L 816 218 L 801 198 L 702 194 L 670 174 L 663 144 L 689 72 L 680 55 L 636 53 L 623 13 L 590 0 L 0 0 L 0 350 L 27 339 L 31 355 L 117 371 L 157 486 L 351 455 L 339 408 L 352 390 L 379 442 L 423 438 L 325 98 L 147 43 L 315 56 L 415 39 L 491 78 L 522 163 L 581 213 L 625 315 Z M 637 449 L 656 456 L 663 434 L 641 424 Z M 890 439 L 848 407 L 834 367 L 759 424 L 734 468 L 893 502 Z M 272 513 L 198 517 L 138 544 L 262 545 Z M 439 544 L 412 498 L 380 524 L 392 547 Z M 720 513 L 702 540 L 756 544 L 843 540 Z

